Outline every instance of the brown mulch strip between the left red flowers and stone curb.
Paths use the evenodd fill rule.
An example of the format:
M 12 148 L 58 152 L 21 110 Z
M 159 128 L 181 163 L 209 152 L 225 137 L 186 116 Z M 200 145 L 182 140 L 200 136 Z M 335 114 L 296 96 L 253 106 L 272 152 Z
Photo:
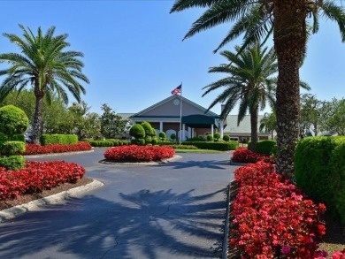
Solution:
M 54 187 L 50 190 L 44 190 L 44 191 L 42 191 L 42 193 L 25 194 L 25 195 L 20 195 L 16 199 L 11 199 L 11 200 L 8 199 L 8 200 L 0 201 L 0 210 L 1 209 L 8 209 L 8 208 L 11 208 L 13 206 L 17 206 L 17 205 L 24 204 L 27 202 L 32 202 L 32 201 L 35 201 L 37 199 L 48 197 L 48 196 L 53 195 L 53 194 L 58 194 L 58 193 L 61 193 L 64 191 L 68 191 L 69 189 L 72 189 L 74 187 L 85 186 L 92 181 L 93 181 L 93 179 L 89 179 L 87 177 L 84 177 L 84 178 L 78 180 L 75 184 L 65 183 L 59 187 Z

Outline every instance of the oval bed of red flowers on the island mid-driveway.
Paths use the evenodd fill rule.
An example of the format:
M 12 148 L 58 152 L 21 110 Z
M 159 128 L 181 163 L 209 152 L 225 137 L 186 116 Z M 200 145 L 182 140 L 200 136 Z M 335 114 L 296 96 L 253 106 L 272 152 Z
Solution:
M 175 150 L 167 146 L 130 145 L 108 149 L 104 152 L 104 157 L 106 160 L 114 162 L 149 162 L 173 157 L 174 154 Z

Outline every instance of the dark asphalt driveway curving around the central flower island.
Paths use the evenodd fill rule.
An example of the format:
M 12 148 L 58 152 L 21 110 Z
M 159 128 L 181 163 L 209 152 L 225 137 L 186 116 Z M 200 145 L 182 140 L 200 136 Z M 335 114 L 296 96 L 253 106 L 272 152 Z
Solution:
M 0 258 L 219 258 L 229 153 L 180 154 L 164 165 L 99 164 L 94 153 L 50 156 L 104 186 L 0 224 Z

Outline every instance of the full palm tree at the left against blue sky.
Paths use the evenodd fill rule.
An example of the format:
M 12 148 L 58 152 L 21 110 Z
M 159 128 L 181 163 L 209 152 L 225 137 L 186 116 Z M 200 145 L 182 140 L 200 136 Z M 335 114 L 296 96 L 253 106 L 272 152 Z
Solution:
M 35 115 L 33 124 L 33 139 L 39 143 L 42 134 L 43 98 L 48 101 L 58 94 L 68 103 L 68 90 L 80 103 L 80 94 L 85 94 L 85 88 L 80 80 L 88 83 L 88 78 L 81 72 L 84 66 L 79 57 L 81 52 L 64 51 L 70 46 L 65 42 L 67 34 L 54 36 L 55 27 L 50 27 L 42 34 L 41 27 L 37 35 L 30 28 L 19 25 L 23 30 L 23 38 L 15 34 L 4 34 L 19 49 L 18 53 L 0 54 L 0 63 L 8 63 L 10 67 L 0 70 L 0 75 L 6 75 L 0 86 L 0 102 L 14 90 L 19 93 L 30 86 L 35 92 Z

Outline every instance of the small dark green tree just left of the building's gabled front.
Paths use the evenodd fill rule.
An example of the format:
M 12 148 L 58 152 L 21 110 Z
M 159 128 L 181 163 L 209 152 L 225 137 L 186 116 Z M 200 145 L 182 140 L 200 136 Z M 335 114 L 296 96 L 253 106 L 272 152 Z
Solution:
M 127 119 L 117 115 L 107 104 L 102 105 L 101 133 L 107 139 L 125 132 Z

